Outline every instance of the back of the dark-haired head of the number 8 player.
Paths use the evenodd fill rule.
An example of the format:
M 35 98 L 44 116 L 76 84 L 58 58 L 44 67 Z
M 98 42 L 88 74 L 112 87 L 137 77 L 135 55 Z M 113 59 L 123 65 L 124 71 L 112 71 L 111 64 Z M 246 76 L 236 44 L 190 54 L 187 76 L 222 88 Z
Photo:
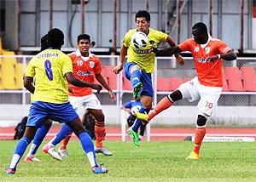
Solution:
M 49 48 L 61 49 L 64 44 L 64 34 L 60 29 L 53 28 L 47 33 Z

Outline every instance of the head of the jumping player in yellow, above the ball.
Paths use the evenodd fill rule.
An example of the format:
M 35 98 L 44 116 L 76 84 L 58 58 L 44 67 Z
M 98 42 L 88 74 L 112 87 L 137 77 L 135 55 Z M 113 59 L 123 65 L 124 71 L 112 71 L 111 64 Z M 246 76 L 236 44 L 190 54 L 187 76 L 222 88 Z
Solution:
M 140 10 L 135 15 L 135 22 L 138 31 L 143 31 L 148 33 L 148 28 L 150 26 L 150 14 L 148 11 Z

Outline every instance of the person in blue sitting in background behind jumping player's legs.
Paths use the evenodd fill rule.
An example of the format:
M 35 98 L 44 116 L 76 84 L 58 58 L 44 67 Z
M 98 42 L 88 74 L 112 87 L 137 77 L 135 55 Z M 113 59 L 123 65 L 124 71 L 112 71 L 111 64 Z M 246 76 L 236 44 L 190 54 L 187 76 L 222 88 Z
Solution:
M 137 98 L 136 100 L 130 100 L 125 103 L 125 105 L 121 106 L 121 109 L 125 110 L 130 114 L 130 116 L 127 118 L 127 124 L 128 127 L 131 127 L 135 120 L 137 119 L 136 116 L 134 116 L 134 113 L 132 113 L 132 110 L 139 111 L 143 106 L 143 103 L 141 102 L 140 98 Z M 146 125 L 142 122 L 140 126 L 140 132 L 139 132 L 139 138 L 142 139 L 144 133 L 145 133 Z

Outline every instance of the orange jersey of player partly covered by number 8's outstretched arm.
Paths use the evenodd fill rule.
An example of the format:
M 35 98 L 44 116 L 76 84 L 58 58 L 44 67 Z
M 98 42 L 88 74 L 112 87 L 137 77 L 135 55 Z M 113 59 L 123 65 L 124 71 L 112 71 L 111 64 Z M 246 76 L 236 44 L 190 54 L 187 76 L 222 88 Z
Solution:
M 102 72 L 101 60 L 95 54 L 89 54 L 89 57 L 82 58 L 79 49 L 76 52 L 69 54 L 73 62 L 73 74 L 75 77 L 83 80 L 84 82 L 94 82 L 95 75 Z M 68 84 L 68 87 L 72 88 L 73 94 L 71 96 L 84 96 L 92 94 L 91 88 L 75 87 L 72 84 Z

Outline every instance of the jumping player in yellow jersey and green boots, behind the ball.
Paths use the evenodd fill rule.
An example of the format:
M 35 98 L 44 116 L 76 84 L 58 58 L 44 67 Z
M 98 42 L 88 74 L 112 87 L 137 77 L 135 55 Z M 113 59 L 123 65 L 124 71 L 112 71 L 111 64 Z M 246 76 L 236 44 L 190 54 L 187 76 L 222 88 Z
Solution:
M 113 72 L 118 74 L 119 71 L 125 70 L 125 77 L 131 81 L 133 88 L 133 97 L 137 99 L 141 97 L 143 107 L 140 110 L 141 113 L 150 111 L 153 101 L 153 87 L 151 73 L 154 72 L 154 49 L 160 42 L 167 42 L 171 47 L 175 46 L 172 37 L 161 31 L 156 31 L 150 26 L 150 14 L 141 10 L 138 11 L 135 16 L 137 29 L 132 29 L 125 34 L 120 49 L 119 64 L 113 68 Z M 148 44 L 145 48 L 135 48 L 131 43 L 131 36 L 136 31 L 143 31 L 148 36 Z M 128 59 L 125 62 L 125 55 Z M 175 54 L 177 62 L 183 65 L 183 58 L 179 54 Z M 141 120 L 137 119 L 134 125 L 128 129 L 129 134 L 133 138 L 135 145 L 140 145 L 139 136 L 137 133 L 138 128 L 141 125 Z

